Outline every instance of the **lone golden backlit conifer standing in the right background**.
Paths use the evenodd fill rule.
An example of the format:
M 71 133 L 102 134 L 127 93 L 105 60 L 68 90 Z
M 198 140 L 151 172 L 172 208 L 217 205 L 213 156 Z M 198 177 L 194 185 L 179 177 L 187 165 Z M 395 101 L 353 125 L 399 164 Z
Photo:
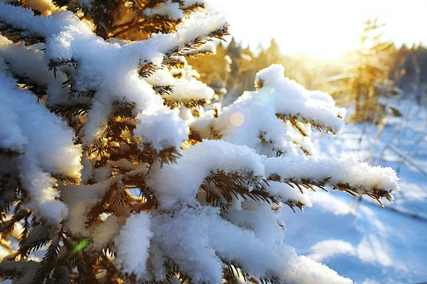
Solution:
M 382 38 L 384 26 L 379 18 L 364 22 L 359 50 L 350 59 L 352 67 L 346 75 L 336 77 L 343 86 L 335 90 L 334 95 L 341 94 L 354 100 L 354 121 L 379 122 L 379 116 L 385 111 L 379 98 L 398 94 L 394 82 L 389 79 L 394 62 L 394 43 Z

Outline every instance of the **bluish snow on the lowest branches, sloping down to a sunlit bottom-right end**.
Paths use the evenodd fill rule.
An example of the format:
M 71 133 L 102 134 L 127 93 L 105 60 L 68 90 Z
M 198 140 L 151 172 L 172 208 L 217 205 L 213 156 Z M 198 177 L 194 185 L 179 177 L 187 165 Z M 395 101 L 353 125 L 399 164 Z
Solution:
M 238 263 L 251 275 L 278 277 L 280 283 L 352 283 L 320 263 L 296 256 L 289 246 L 262 241 L 233 226 L 213 208 L 181 209 L 173 218 L 158 215 L 153 226 L 152 241 L 195 283 L 220 283 L 220 259 Z M 281 234 L 280 227 L 276 231 Z

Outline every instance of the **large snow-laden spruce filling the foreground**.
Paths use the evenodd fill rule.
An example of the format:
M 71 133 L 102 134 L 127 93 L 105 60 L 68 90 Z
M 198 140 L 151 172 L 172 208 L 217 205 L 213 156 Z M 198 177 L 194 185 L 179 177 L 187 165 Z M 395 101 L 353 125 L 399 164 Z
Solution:
M 0 4 L 0 234 L 19 242 L 2 279 L 351 283 L 283 244 L 276 214 L 306 190 L 399 190 L 391 168 L 308 156 L 312 129 L 344 124 L 329 94 L 272 65 L 210 104 L 186 64 L 228 34 L 205 1 L 55 3 L 71 11 Z M 146 39 L 111 38 L 131 31 Z

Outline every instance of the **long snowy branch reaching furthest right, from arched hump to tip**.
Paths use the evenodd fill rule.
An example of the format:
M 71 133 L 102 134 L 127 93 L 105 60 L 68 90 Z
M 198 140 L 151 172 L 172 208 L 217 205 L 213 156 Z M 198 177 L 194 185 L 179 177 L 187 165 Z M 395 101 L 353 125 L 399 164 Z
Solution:
M 205 180 L 208 183 L 204 185 Z M 272 187 L 263 185 L 263 180 L 267 183 L 272 180 Z M 352 194 L 368 195 L 376 200 L 382 197 L 391 200 L 391 195 L 399 191 L 397 180 L 391 168 L 371 167 L 350 155 L 332 160 L 317 160 L 300 155 L 266 158 L 246 146 L 224 141 L 203 141 L 184 151 L 176 164 L 153 170 L 147 185 L 157 195 L 162 209 L 172 209 L 180 205 L 196 206 L 196 195 L 200 188 L 219 196 L 220 202 L 225 200 L 231 203 L 234 197 L 245 194 L 248 198 L 255 195 L 254 199 L 257 199 L 258 194 L 259 200 L 274 202 L 277 199 L 306 204 L 307 201 L 299 196 L 302 190 L 297 192 L 290 186 L 292 184 L 298 188 L 330 187 Z M 279 186 L 274 182 L 285 182 L 285 185 Z M 234 190 L 227 194 L 233 191 L 235 183 L 244 192 Z M 216 187 L 215 190 L 212 185 Z M 263 185 L 262 188 L 260 185 Z M 265 195 L 255 190 L 264 190 Z

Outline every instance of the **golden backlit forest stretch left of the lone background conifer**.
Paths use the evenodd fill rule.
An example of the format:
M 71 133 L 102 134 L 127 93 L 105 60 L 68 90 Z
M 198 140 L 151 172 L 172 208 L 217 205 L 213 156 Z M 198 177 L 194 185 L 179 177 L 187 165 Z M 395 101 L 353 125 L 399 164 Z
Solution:
M 307 56 L 283 55 L 274 38 L 268 48 L 259 45 L 257 53 L 253 53 L 249 46 L 243 48 L 231 38 L 226 47 L 219 43 L 216 54 L 189 58 L 188 61 L 200 72 L 200 79 L 215 89 L 216 94 L 220 94 L 223 88 L 222 91 L 226 92 L 223 103 L 226 105 L 235 101 L 245 90 L 254 89 L 253 77 L 258 70 L 274 63 L 285 66 L 290 78 L 312 89 L 325 89 L 322 81 L 333 70 L 325 62 L 317 61 L 313 64 L 312 58 Z

